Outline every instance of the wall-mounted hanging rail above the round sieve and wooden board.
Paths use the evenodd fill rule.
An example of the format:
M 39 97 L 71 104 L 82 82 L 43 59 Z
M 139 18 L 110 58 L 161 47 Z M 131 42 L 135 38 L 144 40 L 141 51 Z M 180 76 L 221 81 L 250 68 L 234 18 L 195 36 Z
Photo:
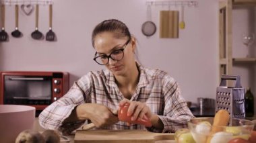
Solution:
M 187 7 L 197 7 L 197 1 L 146 1 L 146 5 L 155 6 L 187 6 Z

